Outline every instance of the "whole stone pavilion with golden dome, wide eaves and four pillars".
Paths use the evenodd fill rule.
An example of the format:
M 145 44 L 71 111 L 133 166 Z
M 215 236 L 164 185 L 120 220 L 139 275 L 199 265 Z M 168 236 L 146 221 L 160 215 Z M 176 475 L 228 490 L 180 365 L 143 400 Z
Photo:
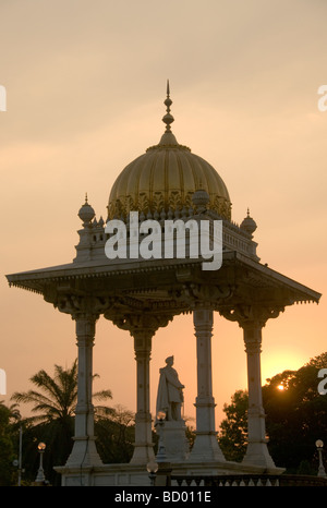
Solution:
M 157 145 L 121 171 L 110 192 L 106 220 L 96 218 L 87 198 L 81 207 L 82 228 L 75 258 L 65 265 L 7 276 L 10 286 L 39 293 L 75 322 L 78 395 L 73 449 L 66 463 L 58 464 L 63 485 L 149 484 L 146 467 L 155 460 L 152 430 L 156 419 L 149 403 L 152 339 L 159 328 L 183 313 L 192 313 L 196 337 L 196 437 L 190 455 L 183 460 L 171 460 L 172 477 L 222 473 L 278 475 L 282 471 L 279 467 L 282 464 L 274 463 L 266 443 L 262 331 L 267 320 L 278 317 L 288 305 L 318 303 L 320 294 L 261 263 L 253 237 L 255 221 L 249 213 L 240 226 L 231 220 L 230 195 L 221 177 L 209 162 L 180 145 L 172 133 L 171 105 L 168 86 L 165 132 Z M 162 235 L 167 220 L 182 225 L 206 222 L 210 227 L 219 222 L 220 268 L 203 269 L 202 255 L 108 258 L 106 244 L 112 239 L 108 225 L 112 221 L 125 225 L 123 240 L 131 240 L 131 213 L 137 214 L 140 231 L 146 221 L 155 220 Z M 136 237 L 137 245 L 142 239 L 142 234 Z M 249 442 L 242 463 L 227 461 L 216 437 L 211 386 L 215 313 L 240 326 L 245 344 Z M 104 464 L 96 448 L 92 354 L 100 316 L 128 330 L 134 343 L 137 411 L 134 453 L 129 464 Z

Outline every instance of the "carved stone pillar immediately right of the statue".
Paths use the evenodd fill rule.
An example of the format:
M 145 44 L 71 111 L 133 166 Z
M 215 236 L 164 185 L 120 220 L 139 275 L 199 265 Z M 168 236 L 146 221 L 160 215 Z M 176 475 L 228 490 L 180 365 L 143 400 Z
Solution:
M 197 355 L 196 438 L 191 461 L 225 461 L 215 428 L 215 399 L 211 382 L 213 311 L 193 311 Z

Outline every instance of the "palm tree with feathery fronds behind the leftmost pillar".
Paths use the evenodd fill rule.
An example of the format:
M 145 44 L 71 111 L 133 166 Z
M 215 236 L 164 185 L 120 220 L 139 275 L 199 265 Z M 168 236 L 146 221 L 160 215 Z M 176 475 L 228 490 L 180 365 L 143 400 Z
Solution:
M 52 484 L 58 483 L 53 465 L 65 463 L 72 446 L 74 435 L 74 410 L 77 402 L 77 360 L 71 368 L 64 370 L 55 365 L 55 375 L 50 376 L 41 370 L 29 379 L 39 390 L 16 391 L 12 400 L 32 403 L 32 416 L 24 419 L 25 436 L 33 436 L 29 446 L 25 447 L 25 456 L 35 457 L 34 468 L 37 468 L 36 439 L 47 444 L 45 453 L 46 477 Z M 94 394 L 95 398 L 107 400 L 112 398 L 110 390 Z M 96 413 L 110 414 L 111 408 L 100 406 L 95 408 Z M 33 450 L 32 450 L 33 448 Z M 48 474 L 48 476 L 47 476 Z

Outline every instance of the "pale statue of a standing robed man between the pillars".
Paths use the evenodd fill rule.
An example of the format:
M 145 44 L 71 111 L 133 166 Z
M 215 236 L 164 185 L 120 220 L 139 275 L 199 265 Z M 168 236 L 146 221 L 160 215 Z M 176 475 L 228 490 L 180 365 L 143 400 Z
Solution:
M 181 409 L 184 400 L 184 385 L 179 380 L 177 371 L 172 367 L 173 356 L 166 359 L 166 367 L 159 370 L 160 378 L 157 395 L 157 414 L 166 413 L 166 420 L 182 420 Z

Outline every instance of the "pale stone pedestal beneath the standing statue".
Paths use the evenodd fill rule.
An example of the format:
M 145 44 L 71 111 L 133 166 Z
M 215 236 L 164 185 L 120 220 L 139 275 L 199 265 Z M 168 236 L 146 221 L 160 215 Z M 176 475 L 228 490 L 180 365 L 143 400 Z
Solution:
M 166 451 L 168 462 L 183 462 L 187 459 L 190 449 L 186 439 L 186 425 L 183 420 L 168 421 L 156 425 L 157 432 Z

